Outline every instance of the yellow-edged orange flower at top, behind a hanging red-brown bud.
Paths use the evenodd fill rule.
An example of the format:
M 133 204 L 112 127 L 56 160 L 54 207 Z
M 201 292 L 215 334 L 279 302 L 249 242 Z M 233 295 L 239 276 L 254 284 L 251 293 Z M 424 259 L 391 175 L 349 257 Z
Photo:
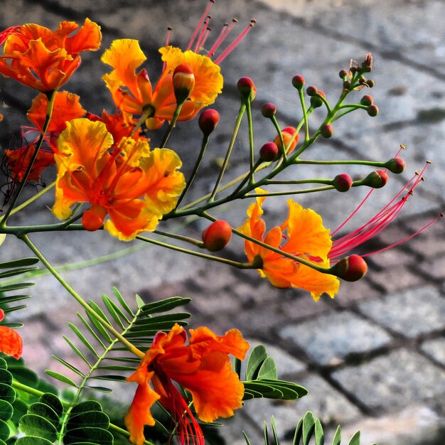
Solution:
M 198 55 L 192 50 L 183 52 L 172 46 L 161 48 L 159 52 L 165 67 L 154 89 L 146 70 L 136 73 L 139 65 L 146 60 L 138 41 L 129 38 L 115 40 L 102 55 L 102 62 L 114 68 L 102 77 L 114 103 L 130 114 L 142 114 L 148 109 L 150 117 L 146 126 L 149 129 L 158 129 L 165 120 L 173 117 L 176 109 L 173 71 L 178 65 L 188 65 L 195 77 L 195 86 L 183 104 L 179 121 L 192 119 L 200 109 L 213 104 L 223 88 L 220 67 L 206 55 Z

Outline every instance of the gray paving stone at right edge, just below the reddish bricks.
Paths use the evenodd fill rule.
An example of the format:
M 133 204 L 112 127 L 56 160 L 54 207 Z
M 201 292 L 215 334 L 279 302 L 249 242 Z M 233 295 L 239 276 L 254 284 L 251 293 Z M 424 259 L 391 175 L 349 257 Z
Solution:
M 445 299 L 433 286 L 406 289 L 358 304 L 377 323 L 407 338 L 440 331 L 445 327 Z

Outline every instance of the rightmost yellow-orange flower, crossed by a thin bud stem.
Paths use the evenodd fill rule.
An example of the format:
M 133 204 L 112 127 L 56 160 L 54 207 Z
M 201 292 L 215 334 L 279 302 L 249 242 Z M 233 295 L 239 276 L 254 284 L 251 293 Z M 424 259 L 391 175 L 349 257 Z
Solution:
M 281 226 L 273 227 L 264 235 L 266 223 L 261 219 L 264 199 L 266 198 L 257 198 L 257 202 L 250 205 L 247 210 L 249 218 L 239 230 L 245 235 L 272 247 L 277 247 L 283 252 L 304 259 L 310 259 L 309 256 L 319 258 L 318 265 L 329 267 L 328 253 L 331 250 L 332 241 L 329 230 L 323 227 L 320 215 L 311 209 L 302 208 L 294 200 L 289 199 L 287 201 L 289 205 L 287 219 Z M 284 230 L 287 231 L 286 235 L 283 235 Z M 286 239 L 284 245 L 282 245 L 283 238 Z M 338 291 L 339 282 L 334 275 L 318 272 L 252 241 L 245 241 L 245 252 L 251 262 L 261 260 L 262 267 L 258 269 L 259 274 L 263 278 L 267 277 L 275 287 L 301 287 L 311 292 L 315 301 L 323 293 L 333 298 Z

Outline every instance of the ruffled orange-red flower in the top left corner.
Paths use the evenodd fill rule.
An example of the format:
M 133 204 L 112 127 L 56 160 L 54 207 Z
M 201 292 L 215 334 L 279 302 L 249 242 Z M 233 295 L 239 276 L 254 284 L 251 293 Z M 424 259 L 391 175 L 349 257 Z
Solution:
M 35 23 L 6 29 L 0 33 L 0 73 L 41 92 L 58 90 L 80 65 L 80 53 L 100 47 L 97 23 L 86 18 L 69 36 L 77 28 L 73 21 L 62 21 L 56 31 Z

